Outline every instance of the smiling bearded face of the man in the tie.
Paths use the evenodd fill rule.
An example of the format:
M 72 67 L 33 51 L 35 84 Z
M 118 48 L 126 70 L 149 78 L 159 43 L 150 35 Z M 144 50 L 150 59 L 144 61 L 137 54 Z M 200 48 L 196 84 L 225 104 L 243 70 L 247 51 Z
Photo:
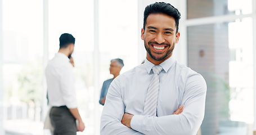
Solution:
M 141 39 L 144 40 L 149 61 L 163 62 L 168 59 L 179 40 L 174 18 L 163 13 L 151 13 L 147 17 L 145 30 L 141 30 Z

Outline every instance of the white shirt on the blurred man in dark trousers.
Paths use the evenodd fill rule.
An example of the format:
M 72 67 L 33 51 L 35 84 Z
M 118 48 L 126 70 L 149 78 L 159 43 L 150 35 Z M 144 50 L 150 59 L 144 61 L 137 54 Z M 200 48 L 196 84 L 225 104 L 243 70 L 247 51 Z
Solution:
M 51 106 L 77 108 L 73 66 L 63 53 L 56 53 L 46 67 L 48 100 Z

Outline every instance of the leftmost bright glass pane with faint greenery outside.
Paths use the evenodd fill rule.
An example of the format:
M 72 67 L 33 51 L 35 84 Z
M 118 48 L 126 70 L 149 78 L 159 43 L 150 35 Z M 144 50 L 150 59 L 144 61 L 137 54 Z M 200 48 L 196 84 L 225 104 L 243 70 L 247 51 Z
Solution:
M 2 1 L 3 127 L 7 134 L 40 134 L 42 127 L 42 3 Z

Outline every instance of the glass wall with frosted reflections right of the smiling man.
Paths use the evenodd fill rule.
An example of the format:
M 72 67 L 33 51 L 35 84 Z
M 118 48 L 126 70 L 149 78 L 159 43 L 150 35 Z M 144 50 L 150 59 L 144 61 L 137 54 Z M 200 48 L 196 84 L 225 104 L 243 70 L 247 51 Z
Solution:
M 202 74 L 208 86 L 201 125 L 203 135 L 253 134 L 253 17 L 239 16 L 251 13 L 251 4 L 251 1 L 213 0 L 194 4 L 187 1 L 187 21 L 237 15 L 230 17 L 235 18 L 230 21 L 216 17 L 218 22 L 212 24 L 204 24 L 202 18 L 200 25 L 187 26 L 188 66 Z

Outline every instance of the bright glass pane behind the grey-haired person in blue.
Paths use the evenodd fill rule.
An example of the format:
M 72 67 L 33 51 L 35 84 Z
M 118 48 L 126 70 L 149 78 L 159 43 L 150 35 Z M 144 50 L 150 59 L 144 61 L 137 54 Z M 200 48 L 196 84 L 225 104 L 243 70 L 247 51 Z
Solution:
M 124 67 L 120 74 L 138 64 L 137 1 L 100 0 L 99 19 L 100 89 L 97 100 L 100 100 L 103 82 L 113 78 L 109 71 L 110 60 L 123 60 Z M 103 106 L 98 106 L 101 112 Z

